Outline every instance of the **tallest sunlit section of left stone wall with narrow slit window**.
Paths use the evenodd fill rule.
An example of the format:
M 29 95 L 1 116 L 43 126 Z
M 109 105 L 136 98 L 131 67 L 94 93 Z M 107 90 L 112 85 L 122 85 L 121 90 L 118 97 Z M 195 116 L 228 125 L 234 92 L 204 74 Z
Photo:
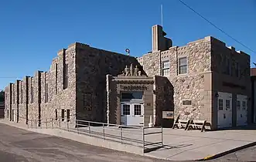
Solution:
M 67 120 L 67 110 L 70 110 L 70 122 L 74 122 L 76 115 L 76 73 L 75 73 L 75 46 L 62 49 L 58 56 L 53 59 L 51 70 L 46 73 L 46 83 L 48 83 L 48 103 L 44 103 L 42 110 L 47 110 L 44 116 L 55 119 L 61 117 L 61 110 L 65 110 L 65 121 Z M 68 86 L 63 89 L 63 64 L 68 64 Z M 44 96 L 44 95 L 43 95 Z M 42 104 L 41 104 L 42 105 Z

